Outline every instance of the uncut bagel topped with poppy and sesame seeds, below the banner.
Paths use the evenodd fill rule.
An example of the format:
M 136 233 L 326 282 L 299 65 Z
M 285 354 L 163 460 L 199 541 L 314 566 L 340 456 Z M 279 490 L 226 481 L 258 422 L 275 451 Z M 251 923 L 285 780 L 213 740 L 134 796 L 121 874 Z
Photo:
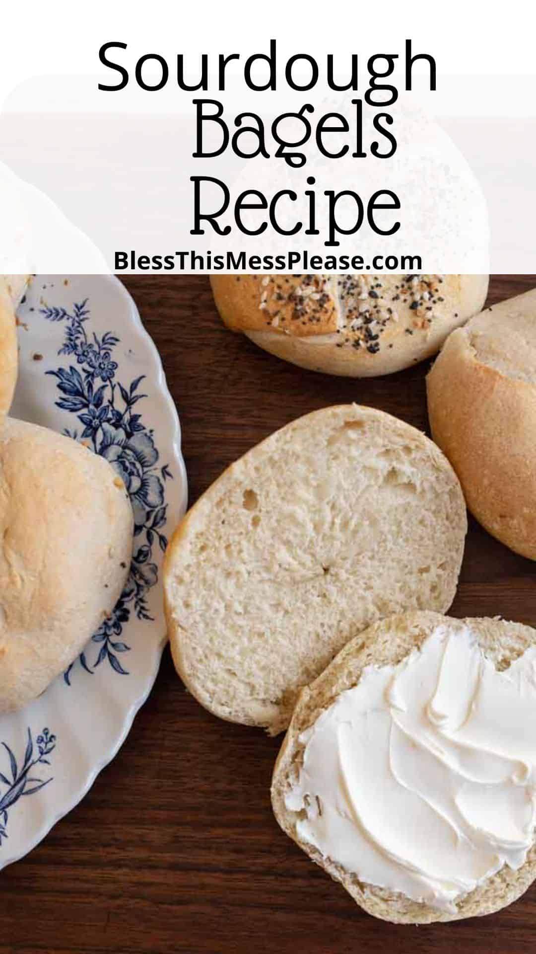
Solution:
M 278 358 L 348 377 L 435 354 L 479 312 L 486 275 L 213 275 L 219 314 Z

